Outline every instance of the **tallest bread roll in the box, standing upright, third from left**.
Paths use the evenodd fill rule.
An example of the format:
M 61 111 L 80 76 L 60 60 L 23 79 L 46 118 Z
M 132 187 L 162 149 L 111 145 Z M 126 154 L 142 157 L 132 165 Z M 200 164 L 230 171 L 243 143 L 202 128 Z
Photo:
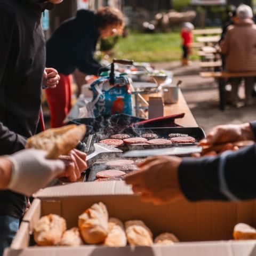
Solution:
M 103 243 L 108 235 L 108 211 L 103 203 L 93 204 L 78 217 L 78 227 L 86 244 Z

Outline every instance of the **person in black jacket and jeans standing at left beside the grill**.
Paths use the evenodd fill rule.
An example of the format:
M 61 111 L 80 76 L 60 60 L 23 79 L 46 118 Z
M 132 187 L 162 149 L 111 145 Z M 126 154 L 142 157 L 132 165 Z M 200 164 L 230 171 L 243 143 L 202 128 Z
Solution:
M 25 148 L 26 139 L 36 133 L 43 77 L 47 86 L 58 83 L 57 71 L 45 70 L 41 14 L 59 2 L 62 0 L 0 0 L 0 155 Z M 85 170 L 85 155 L 82 158 L 84 164 L 79 162 L 78 167 L 81 157 L 70 156 L 63 177 L 72 175 L 75 180 L 80 169 Z M 0 255 L 17 232 L 27 204 L 24 195 L 0 191 Z

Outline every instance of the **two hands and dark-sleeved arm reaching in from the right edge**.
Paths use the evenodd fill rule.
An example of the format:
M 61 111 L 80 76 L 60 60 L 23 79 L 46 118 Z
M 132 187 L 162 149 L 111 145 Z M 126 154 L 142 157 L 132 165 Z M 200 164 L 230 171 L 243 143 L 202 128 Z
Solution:
M 217 126 L 206 137 L 210 145 L 254 140 L 256 122 Z M 162 204 L 190 201 L 239 201 L 256 198 L 256 143 L 214 157 L 151 157 L 126 178 L 143 201 Z

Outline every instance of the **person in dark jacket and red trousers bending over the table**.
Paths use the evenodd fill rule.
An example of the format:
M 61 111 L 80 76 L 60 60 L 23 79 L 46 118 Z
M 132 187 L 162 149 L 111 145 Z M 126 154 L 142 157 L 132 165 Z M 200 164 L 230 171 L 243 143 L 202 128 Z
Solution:
M 99 37 L 106 39 L 121 33 L 123 14 L 113 7 L 103 7 L 97 13 L 79 10 L 75 18 L 63 22 L 46 44 L 46 67 L 59 71 L 56 89 L 47 90 L 51 111 L 51 127 L 60 127 L 71 108 L 72 75 L 75 69 L 98 75 L 101 65 L 93 54 Z

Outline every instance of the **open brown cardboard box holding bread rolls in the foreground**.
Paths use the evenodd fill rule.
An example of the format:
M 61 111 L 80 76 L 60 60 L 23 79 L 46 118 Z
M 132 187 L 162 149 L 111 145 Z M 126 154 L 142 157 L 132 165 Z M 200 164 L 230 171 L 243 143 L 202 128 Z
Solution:
M 190 203 L 182 199 L 156 206 L 141 202 L 123 181 L 49 187 L 38 191 L 35 197 L 4 256 L 249 256 L 256 253 L 256 240 L 232 240 L 237 223 L 256 226 L 255 201 Z M 59 215 L 57 219 L 55 214 Z M 50 219 L 58 230 L 49 235 L 49 228 L 44 226 Z M 107 220 L 112 235 L 110 231 L 105 234 Z M 42 232 L 43 229 L 48 233 Z M 137 237 L 138 233 L 141 237 Z M 174 234 L 180 242 L 174 238 L 174 243 L 156 243 L 159 237 L 166 239 L 166 234 L 159 236 L 162 233 Z M 58 237 L 62 237 L 61 242 L 53 242 Z M 69 245 L 70 237 L 73 246 Z M 136 243 L 140 239 L 145 241 L 144 238 L 149 244 L 138 246 Z M 118 247 L 116 242 L 122 246 Z

